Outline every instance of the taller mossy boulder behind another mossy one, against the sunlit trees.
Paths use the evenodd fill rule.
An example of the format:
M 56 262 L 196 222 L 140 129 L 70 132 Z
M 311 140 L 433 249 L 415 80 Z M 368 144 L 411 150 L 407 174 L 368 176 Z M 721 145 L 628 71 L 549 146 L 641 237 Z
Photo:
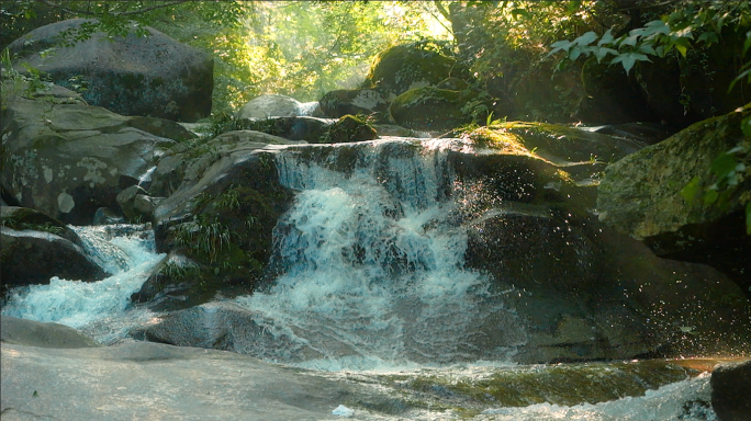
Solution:
M 456 60 L 411 45 L 397 45 L 378 55 L 365 84 L 400 95 L 410 89 L 435 86 L 451 76 Z

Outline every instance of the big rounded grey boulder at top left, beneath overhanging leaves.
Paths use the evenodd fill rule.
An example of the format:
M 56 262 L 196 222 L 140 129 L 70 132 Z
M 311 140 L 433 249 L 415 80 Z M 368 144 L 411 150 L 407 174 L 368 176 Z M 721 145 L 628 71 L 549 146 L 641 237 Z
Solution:
M 94 23 L 88 19 L 52 23 L 8 48 L 18 56 L 16 62 L 27 62 L 57 84 L 85 84 L 82 95 L 89 104 L 117 114 L 183 122 L 209 116 L 214 87 L 209 54 L 148 26 L 148 36 L 109 37 L 94 32 L 72 46 L 58 44 L 64 33 L 83 32 Z

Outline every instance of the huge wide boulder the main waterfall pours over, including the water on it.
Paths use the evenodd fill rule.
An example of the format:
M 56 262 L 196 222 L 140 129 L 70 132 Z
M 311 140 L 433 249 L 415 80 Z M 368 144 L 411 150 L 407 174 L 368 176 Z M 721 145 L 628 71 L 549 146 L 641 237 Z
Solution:
M 379 338 L 375 342 L 388 342 L 385 357 L 446 363 L 500 359 L 509 349 L 517 362 L 539 363 L 748 348 L 746 321 L 751 308 L 736 284 L 710 268 L 657 258 L 591 215 L 596 182 L 585 181 L 603 164 L 576 160 L 590 156 L 623 159 L 629 150 L 618 149 L 620 139 L 607 143 L 607 136 L 582 132 L 584 145 L 571 145 L 573 139 L 564 135 L 572 135 L 563 129 L 542 138 L 501 128 L 491 137 L 486 130 L 479 129 L 477 136 L 464 139 L 266 149 L 276 156 L 280 183 L 303 189 L 291 210 L 276 223 L 274 232 L 280 237 L 272 244 L 266 271 L 269 281 L 277 283 L 261 284 L 256 294 L 264 295 L 173 312 L 134 335 L 292 362 L 372 356 L 368 350 L 375 346 L 370 341 L 374 337 Z M 563 145 L 557 148 L 556 139 Z M 527 146 L 541 148 L 543 141 L 558 159 L 542 158 L 531 152 L 535 147 Z M 445 155 L 438 156 L 438 149 Z M 552 152 L 550 157 L 554 157 Z M 436 173 L 429 172 L 433 164 L 440 168 Z M 371 190 L 348 185 L 348 178 L 369 171 L 383 186 L 378 197 L 371 196 Z M 358 185 L 365 183 L 355 180 Z M 436 185 L 429 186 L 431 183 Z M 330 214 L 327 198 L 307 202 L 325 193 L 336 197 L 338 205 L 348 189 L 352 189 L 351 202 L 336 207 L 340 214 Z M 311 191 L 315 194 L 305 194 Z M 427 194 L 447 201 L 451 212 L 425 212 L 418 224 L 402 220 L 410 206 L 425 209 L 434 200 Z M 311 208 L 311 213 L 299 213 L 301 208 Z M 338 232 L 334 246 L 326 241 L 326 229 Z M 431 259 L 448 259 L 448 254 L 433 250 L 412 253 L 411 244 L 447 231 L 458 236 L 436 247 L 460 250 L 463 259 L 459 262 L 434 262 Z M 330 253 L 323 253 L 324 261 L 307 260 L 316 248 Z M 336 266 L 340 259 L 346 263 L 341 268 Z M 329 263 L 334 271 L 345 272 L 346 281 L 332 281 L 337 274 L 328 274 L 315 285 L 295 289 L 306 282 L 294 277 L 300 271 L 307 276 L 306 268 L 325 264 L 323 270 L 332 270 Z M 348 273 L 350 263 L 354 274 Z M 425 295 L 415 295 L 412 288 L 422 285 L 425 268 L 433 264 L 461 270 L 450 272 L 456 275 L 451 286 L 434 281 L 425 286 L 428 292 L 419 289 Z M 351 294 L 355 300 L 348 300 L 350 291 L 334 288 L 340 283 L 360 285 L 362 280 L 357 276 L 368 277 L 366 271 L 371 270 L 382 272 L 383 278 L 374 277 L 361 287 L 361 294 Z M 290 273 L 294 283 L 277 277 Z M 477 274 L 487 277 L 480 277 L 482 281 L 468 289 L 471 292 L 464 292 L 464 286 L 452 289 L 453 284 L 463 285 L 462 276 Z M 337 293 L 321 294 L 325 307 L 305 305 L 321 298 L 305 288 L 328 292 L 329 287 Z M 368 288 L 386 292 L 384 297 L 394 294 L 383 301 L 389 320 L 357 312 L 358 306 L 368 301 L 361 295 L 372 294 Z M 478 295 L 472 295 L 474 288 Z M 287 291 L 293 291 L 290 301 L 283 298 Z M 464 293 L 472 298 L 467 307 L 460 304 Z M 442 303 L 438 305 L 435 297 L 447 301 L 436 298 Z M 337 320 L 330 310 L 324 310 L 330 306 L 337 308 L 337 315 L 349 317 L 349 310 L 355 310 L 357 316 Z M 281 314 L 280 308 L 284 309 Z M 329 334 L 329 329 L 336 333 Z M 249 335 L 255 340 L 248 341 Z

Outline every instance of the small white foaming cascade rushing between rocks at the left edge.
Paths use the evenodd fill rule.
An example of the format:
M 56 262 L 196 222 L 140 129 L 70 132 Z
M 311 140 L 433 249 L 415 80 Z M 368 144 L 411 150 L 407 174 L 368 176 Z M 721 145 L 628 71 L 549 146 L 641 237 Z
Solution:
M 121 228 L 126 228 L 121 226 Z M 113 273 L 98 282 L 61 280 L 48 285 L 14 289 L 2 314 L 37 321 L 54 321 L 85 330 L 100 342 L 110 343 L 125 331 L 150 318 L 147 310 L 126 311 L 152 270 L 165 258 L 154 252 L 154 235 L 144 231 L 112 237 L 107 227 L 76 227 L 87 253 Z M 128 229 L 133 232 L 134 229 Z M 110 237 L 108 239 L 108 237 Z

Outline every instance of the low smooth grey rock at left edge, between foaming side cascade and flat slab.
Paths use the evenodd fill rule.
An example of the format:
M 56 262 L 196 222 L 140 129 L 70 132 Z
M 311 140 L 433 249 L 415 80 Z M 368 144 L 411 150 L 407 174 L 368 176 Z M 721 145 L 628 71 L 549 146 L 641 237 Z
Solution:
M 0 340 L 40 348 L 96 348 L 99 343 L 74 328 L 60 323 L 0 316 Z

